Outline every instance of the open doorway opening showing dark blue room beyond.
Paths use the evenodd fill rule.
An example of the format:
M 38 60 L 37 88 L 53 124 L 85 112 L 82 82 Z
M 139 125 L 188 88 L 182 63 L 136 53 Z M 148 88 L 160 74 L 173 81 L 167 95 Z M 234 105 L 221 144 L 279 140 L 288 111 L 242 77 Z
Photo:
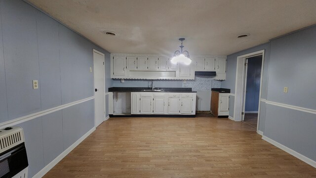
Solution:
M 262 55 L 246 58 L 242 121 L 257 128 Z

